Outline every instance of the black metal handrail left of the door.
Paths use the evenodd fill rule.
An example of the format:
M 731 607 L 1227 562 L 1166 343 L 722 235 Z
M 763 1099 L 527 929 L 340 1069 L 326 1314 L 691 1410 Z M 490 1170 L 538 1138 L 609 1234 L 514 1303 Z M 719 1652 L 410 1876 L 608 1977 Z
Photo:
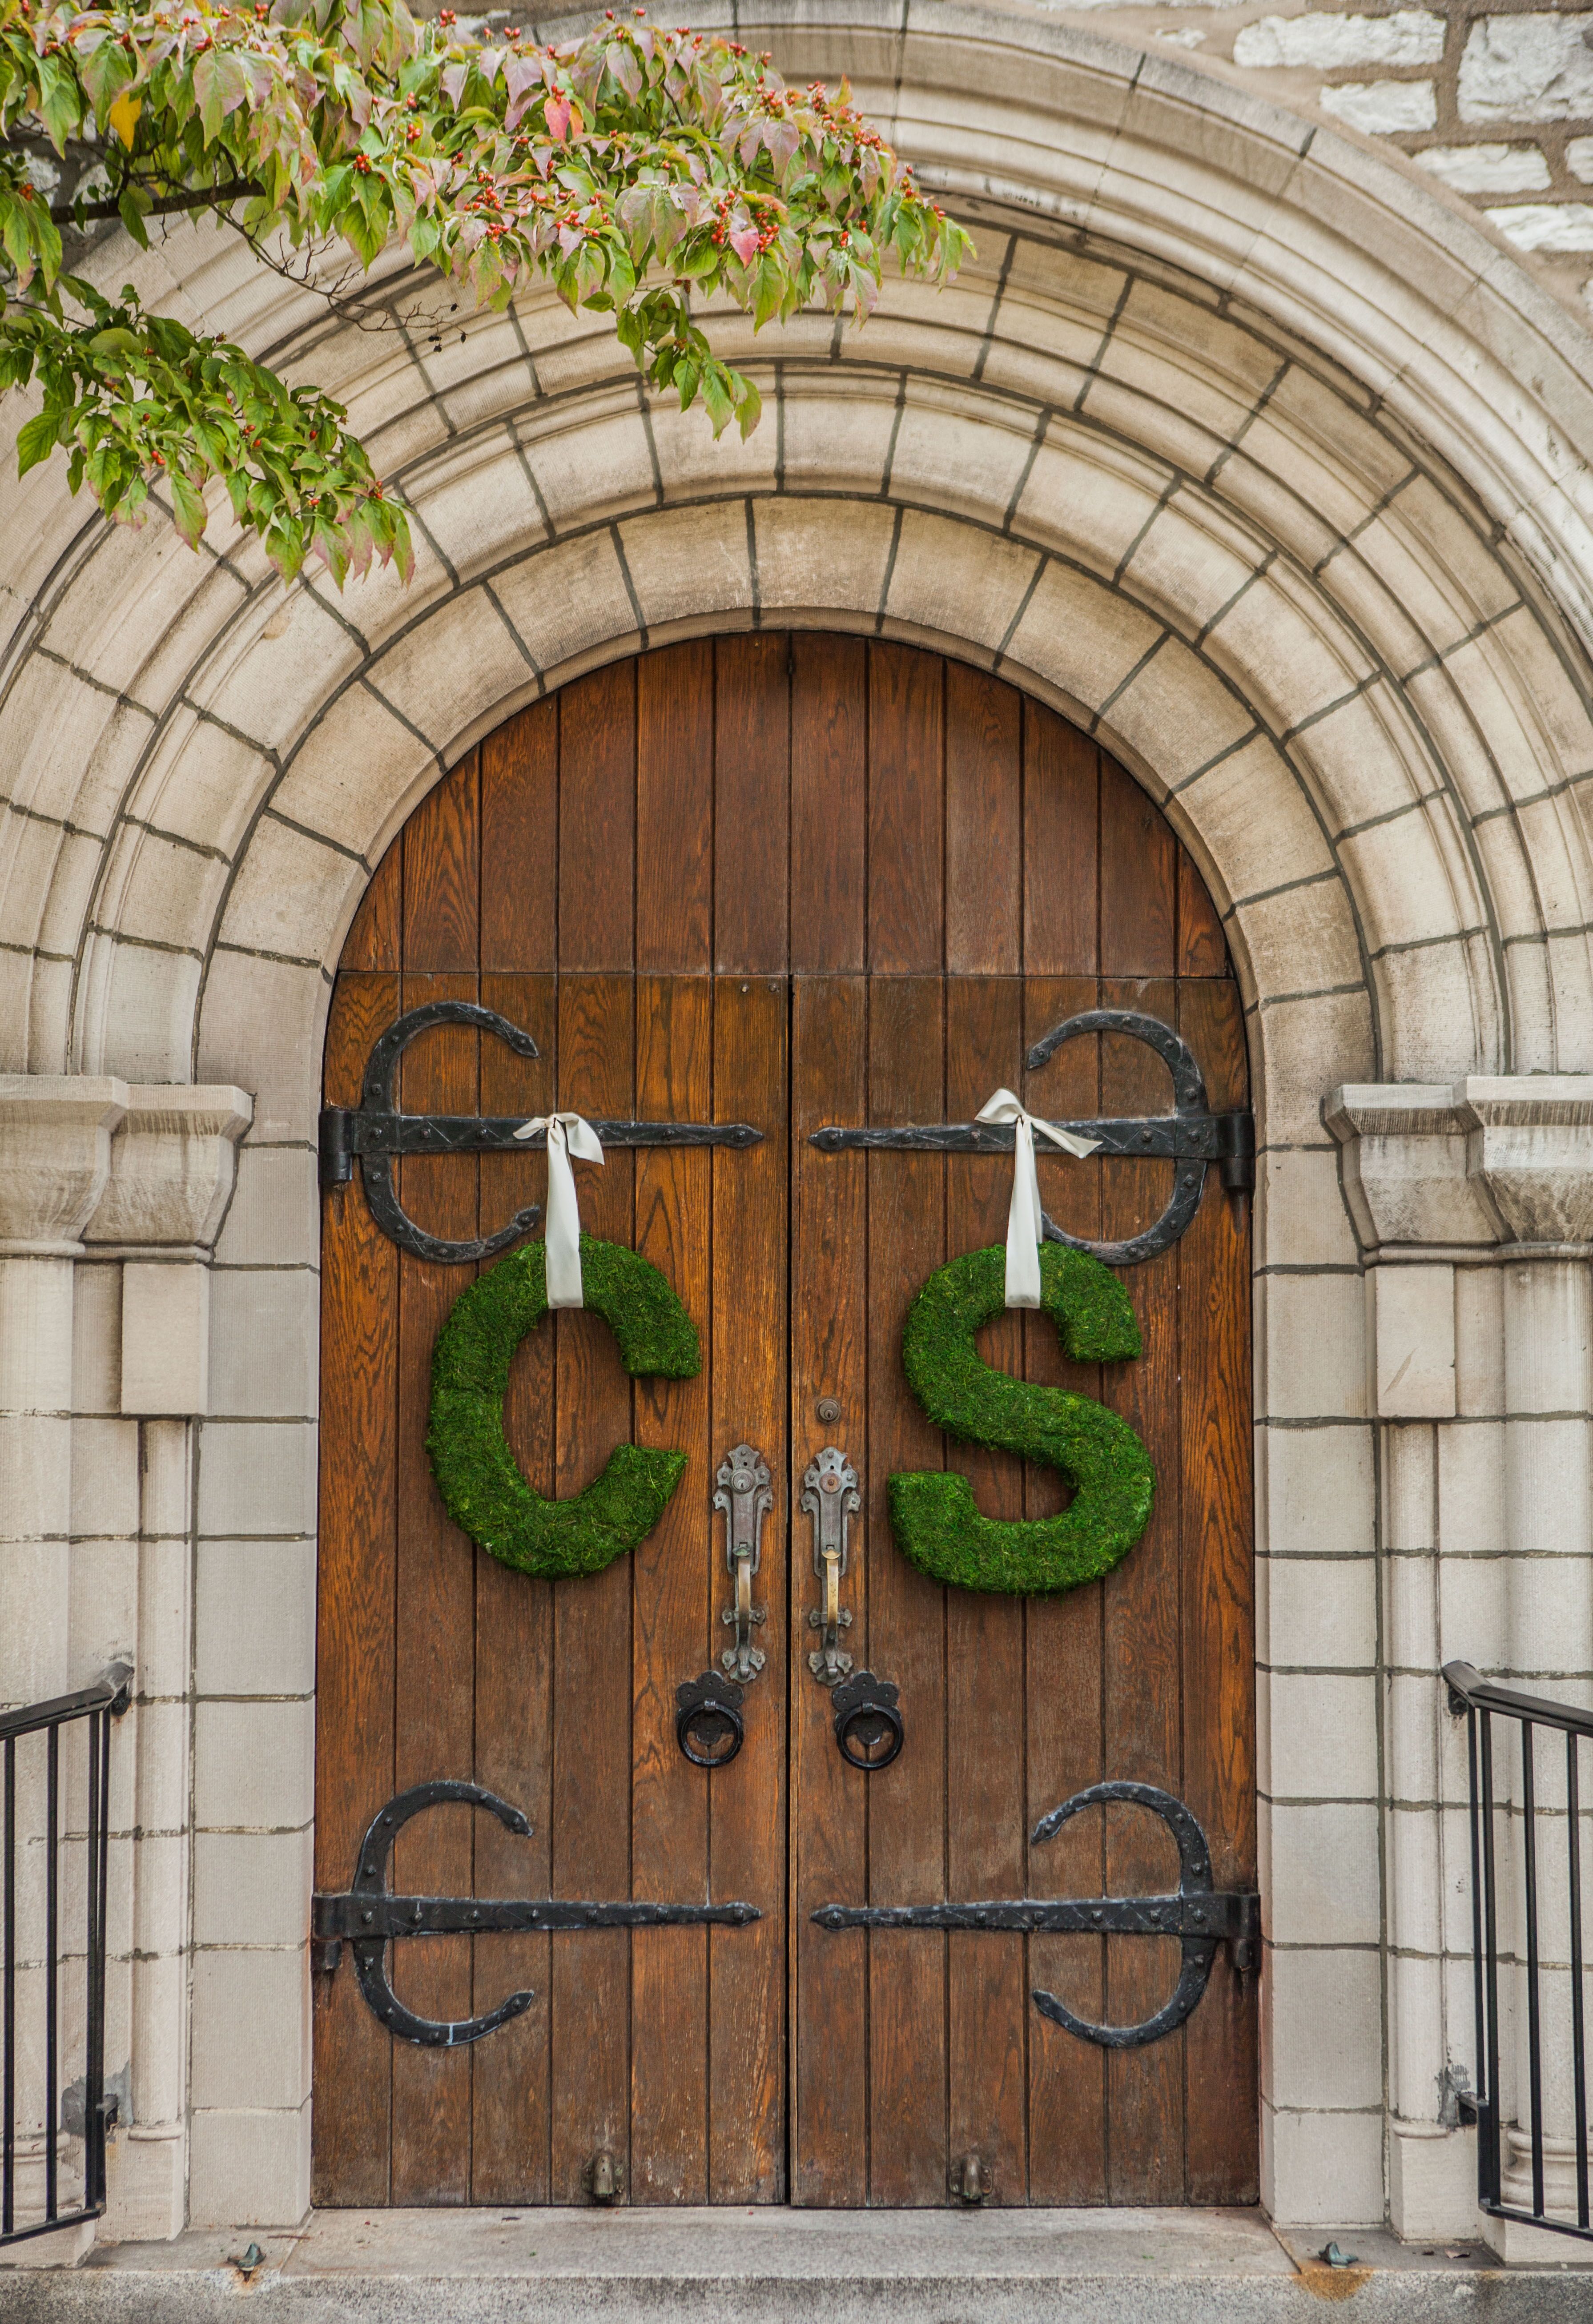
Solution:
M 91 1687 L 0 1713 L 0 2245 L 51 2236 L 105 2210 L 105 1894 L 109 1864 L 112 1720 L 130 1701 L 133 1666 L 114 1662 Z M 84 1822 L 84 2201 L 60 2210 L 60 1729 L 88 1720 L 88 1813 Z M 44 1736 L 44 2215 L 16 2224 L 16 1745 Z

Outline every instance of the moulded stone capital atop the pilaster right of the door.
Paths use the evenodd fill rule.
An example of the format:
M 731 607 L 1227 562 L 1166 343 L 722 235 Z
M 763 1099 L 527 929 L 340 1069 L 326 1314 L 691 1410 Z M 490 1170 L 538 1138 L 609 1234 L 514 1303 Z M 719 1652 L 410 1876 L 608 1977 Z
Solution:
M 1360 1246 L 1593 1246 L 1593 1074 L 1351 1083 L 1323 1102 Z

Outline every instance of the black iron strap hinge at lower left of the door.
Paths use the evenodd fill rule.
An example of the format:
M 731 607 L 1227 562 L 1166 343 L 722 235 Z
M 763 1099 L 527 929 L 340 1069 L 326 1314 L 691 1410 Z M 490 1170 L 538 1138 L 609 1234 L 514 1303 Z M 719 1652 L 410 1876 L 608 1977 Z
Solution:
M 621 1899 L 616 1903 L 572 1903 L 563 1896 L 528 1901 L 521 1896 L 393 1896 L 386 1885 L 393 1841 L 423 1808 L 440 1808 L 456 1801 L 465 1808 L 486 1808 L 500 1824 L 521 1838 L 530 1836 L 530 1820 L 512 1808 L 507 1799 L 484 1789 L 479 1783 L 416 1783 L 414 1789 L 388 1799 L 386 1808 L 372 1815 L 353 1882 L 347 1894 L 316 1894 L 312 1901 L 314 1966 L 330 1975 L 337 1968 L 342 1941 L 353 1948 L 353 1973 L 360 1980 L 365 2001 L 381 2024 L 423 2050 L 458 2050 L 465 2043 L 495 2033 L 512 2017 L 523 2017 L 537 1999 L 533 1992 L 509 1994 L 495 2010 L 481 2017 L 416 2017 L 393 1992 L 386 1948 L 400 1936 L 491 1936 L 505 1929 L 526 1934 L 570 1929 L 677 1929 L 714 1922 L 716 1927 L 744 1929 L 763 1920 L 756 1903 L 647 1903 Z

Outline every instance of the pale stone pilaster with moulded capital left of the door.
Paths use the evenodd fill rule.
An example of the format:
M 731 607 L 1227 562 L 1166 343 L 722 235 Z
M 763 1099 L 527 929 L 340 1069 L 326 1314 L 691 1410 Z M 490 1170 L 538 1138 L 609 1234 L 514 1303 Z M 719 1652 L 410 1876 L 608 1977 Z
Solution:
M 109 1803 L 107 2231 L 123 2238 L 184 2224 L 193 1422 L 249 1118 L 233 1088 L 0 1078 L 0 1701 L 63 1694 L 116 1655 L 135 1666 Z

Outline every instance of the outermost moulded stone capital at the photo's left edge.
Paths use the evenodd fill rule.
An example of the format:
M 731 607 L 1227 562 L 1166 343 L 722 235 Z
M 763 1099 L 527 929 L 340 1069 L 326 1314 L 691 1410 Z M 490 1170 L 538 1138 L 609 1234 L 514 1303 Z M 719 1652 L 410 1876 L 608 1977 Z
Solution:
M 0 1074 L 0 1255 L 81 1253 L 126 1111 L 112 1074 Z

